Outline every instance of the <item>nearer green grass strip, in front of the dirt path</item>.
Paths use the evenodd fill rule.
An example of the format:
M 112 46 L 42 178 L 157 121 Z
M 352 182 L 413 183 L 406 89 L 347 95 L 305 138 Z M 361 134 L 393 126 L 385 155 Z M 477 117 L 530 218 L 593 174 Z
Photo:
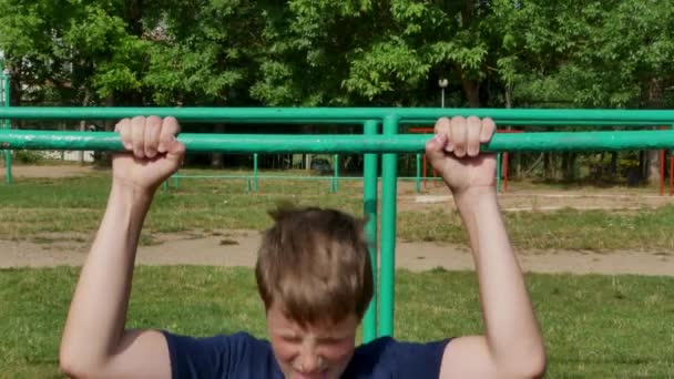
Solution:
M 0 377 L 58 377 L 60 334 L 76 268 L 0 270 Z M 529 275 L 549 378 L 674 373 L 674 277 Z M 480 332 L 474 275 L 399 272 L 396 336 L 426 341 Z M 130 327 L 265 337 L 252 269 L 139 267 Z

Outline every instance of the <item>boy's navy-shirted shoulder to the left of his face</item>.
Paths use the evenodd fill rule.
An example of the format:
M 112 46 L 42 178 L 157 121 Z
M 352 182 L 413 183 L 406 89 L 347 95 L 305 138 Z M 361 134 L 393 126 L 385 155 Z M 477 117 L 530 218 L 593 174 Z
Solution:
M 246 332 L 206 338 L 163 335 L 173 378 L 275 377 L 278 371 L 269 342 Z

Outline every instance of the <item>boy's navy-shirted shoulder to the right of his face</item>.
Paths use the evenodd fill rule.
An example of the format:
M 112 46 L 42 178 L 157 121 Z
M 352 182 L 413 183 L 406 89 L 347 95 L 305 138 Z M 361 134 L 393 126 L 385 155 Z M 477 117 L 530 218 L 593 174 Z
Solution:
M 354 351 L 348 378 L 438 378 L 449 339 L 427 344 L 404 342 L 390 337 L 375 339 Z

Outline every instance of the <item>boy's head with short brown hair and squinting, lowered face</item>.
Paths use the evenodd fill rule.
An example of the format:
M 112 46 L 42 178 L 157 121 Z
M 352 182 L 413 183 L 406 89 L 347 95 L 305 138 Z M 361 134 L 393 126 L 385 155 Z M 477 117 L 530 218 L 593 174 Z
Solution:
M 288 378 L 337 378 L 374 293 L 364 222 L 315 207 L 270 215 L 255 277 L 278 363 Z

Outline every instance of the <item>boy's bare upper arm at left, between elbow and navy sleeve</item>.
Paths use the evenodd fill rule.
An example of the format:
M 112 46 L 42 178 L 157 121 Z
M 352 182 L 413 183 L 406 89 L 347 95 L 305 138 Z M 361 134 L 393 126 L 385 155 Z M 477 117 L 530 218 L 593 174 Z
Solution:
M 157 330 L 124 330 L 105 368 L 108 378 L 171 378 L 171 355 Z

